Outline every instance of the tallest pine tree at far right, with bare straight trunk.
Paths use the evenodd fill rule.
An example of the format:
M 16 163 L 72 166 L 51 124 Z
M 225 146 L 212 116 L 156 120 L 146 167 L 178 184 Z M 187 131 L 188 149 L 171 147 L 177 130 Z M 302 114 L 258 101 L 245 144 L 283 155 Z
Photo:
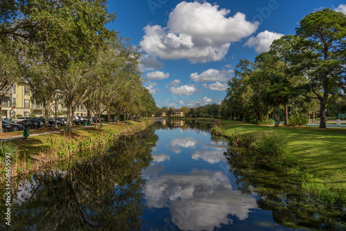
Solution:
M 311 12 L 300 21 L 296 33 L 302 41 L 293 50 L 294 64 L 320 100 L 320 128 L 325 128 L 329 95 L 345 89 L 346 15 L 328 8 Z

